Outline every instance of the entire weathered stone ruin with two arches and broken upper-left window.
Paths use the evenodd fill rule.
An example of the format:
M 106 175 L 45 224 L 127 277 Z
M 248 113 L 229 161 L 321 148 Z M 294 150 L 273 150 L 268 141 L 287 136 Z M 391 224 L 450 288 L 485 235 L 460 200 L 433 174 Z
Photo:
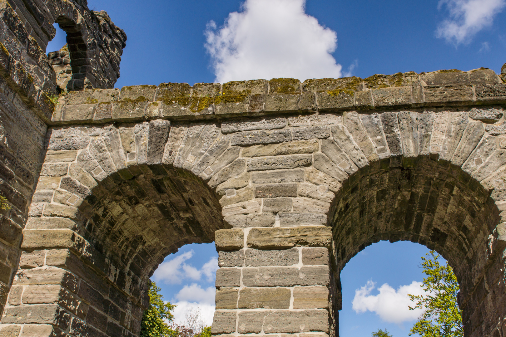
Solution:
M 86 0 L 0 15 L 0 336 L 138 336 L 158 264 L 214 241 L 214 335 L 333 337 L 379 240 L 441 253 L 465 335 L 506 335 L 506 65 L 119 90 L 126 35 Z

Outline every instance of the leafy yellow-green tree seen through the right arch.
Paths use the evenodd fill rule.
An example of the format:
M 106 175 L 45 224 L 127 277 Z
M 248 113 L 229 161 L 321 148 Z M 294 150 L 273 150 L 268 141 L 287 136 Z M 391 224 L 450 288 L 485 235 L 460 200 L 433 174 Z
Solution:
M 441 265 L 442 257 L 435 251 L 421 257 L 424 268 L 424 295 L 408 295 L 416 303 L 414 307 L 424 310 L 409 335 L 418 333 L 422 337 L 462 337 L 462 311 L 457 305 L 459 290 L 453 269 L 446 262 Z

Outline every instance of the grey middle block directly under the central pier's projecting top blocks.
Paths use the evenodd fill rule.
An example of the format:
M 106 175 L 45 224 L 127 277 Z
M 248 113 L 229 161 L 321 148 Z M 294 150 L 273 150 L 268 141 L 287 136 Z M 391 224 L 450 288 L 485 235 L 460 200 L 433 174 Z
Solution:
M 244 261 L 247 267 L 291 266 L 299 263 L 299 249 L 277 251 L 248 249 Z

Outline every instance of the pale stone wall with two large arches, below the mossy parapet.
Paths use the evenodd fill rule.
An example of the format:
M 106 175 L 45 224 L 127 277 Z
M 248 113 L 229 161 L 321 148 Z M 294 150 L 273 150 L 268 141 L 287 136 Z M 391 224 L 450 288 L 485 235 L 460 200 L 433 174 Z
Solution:
M 154 90 L 123 88 L 120 97 Z M 117 107 L 129 110 L 121 102 Z M 504 324 L 497 301 L 506 161 L 500 127 L 480 120 L 490 113 L 499 116 L 457 109 L 54 127 L 2 323 L 137 335 L 145 282 L 160 258 L 214 235 L 220 269 L 213 334 L 335 336 L 344 264 L 375 240 L 410 239 L 456 268 L 466 334 L 494 335 Z M 169 186 L 181 183 L 164 179 L 195 186 L 190 196 L 178 192 L 182 209 L 168 197 Z M 191 213 L 208 229 L 196 234 L 202 226 L 185 220 L 182 239 L 158 255 L 144 253 L 137 245 L 156 231 L 131 221 L 143 216 L 135 208 L 138 185 L 156 199 L 153 218 L 178 222 Z M 121 236 L 119 229 L 132 232 Z M 57 294 L 48 300 L 40 293 L 51 286 Z M 24 311 L 37 305 L 52 316 L 28 318 Z

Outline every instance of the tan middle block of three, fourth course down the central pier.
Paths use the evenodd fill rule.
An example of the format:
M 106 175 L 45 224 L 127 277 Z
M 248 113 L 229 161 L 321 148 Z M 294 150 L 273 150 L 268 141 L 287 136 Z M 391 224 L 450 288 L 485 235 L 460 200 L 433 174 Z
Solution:
M 242 288 L 237 307 L 239 309 L 288 309 L 291 291 L 289 288 Z M 237 302 L 236 302 L 237 303 Z

